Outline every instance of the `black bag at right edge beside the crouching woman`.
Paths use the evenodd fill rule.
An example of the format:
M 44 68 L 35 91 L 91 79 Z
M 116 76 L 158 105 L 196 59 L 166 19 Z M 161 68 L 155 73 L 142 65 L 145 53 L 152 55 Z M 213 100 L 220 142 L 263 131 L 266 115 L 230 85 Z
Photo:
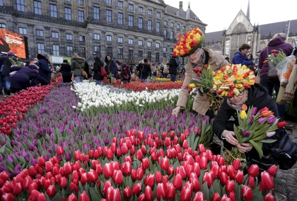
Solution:
M 284 134 L 279 143 L 271 148 L 271 154 L 279 169 L 290 169 L 297 161 L 297 144 L 292 141 L 287 131 L 283 129 Z

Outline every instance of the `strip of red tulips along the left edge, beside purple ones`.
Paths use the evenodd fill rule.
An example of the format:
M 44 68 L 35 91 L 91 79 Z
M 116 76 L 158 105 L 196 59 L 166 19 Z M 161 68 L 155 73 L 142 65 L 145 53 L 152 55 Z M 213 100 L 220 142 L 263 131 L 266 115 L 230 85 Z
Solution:
M 11 128 L 16 127 L 18 120 L 24 118 L 25 112 L 29 110 L 29 106 L 41 101 L 52 89 L 53 85 L 61 81 L 51 83 L 46 86 L 28 87 L 26 91 L 20 91 L 17 95 L 3 96 L 0 102 L 0 133 L 11 135 Z

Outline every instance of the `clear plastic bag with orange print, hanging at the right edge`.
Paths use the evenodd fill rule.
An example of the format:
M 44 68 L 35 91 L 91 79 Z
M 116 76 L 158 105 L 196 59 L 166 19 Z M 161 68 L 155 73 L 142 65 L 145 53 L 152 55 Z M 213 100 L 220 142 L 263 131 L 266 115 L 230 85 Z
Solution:
M 276 65 L 276 71 L 279 77 L 280 85 L 286 87 L 291 75 L 296 58 L 294 55 L 287 56 L 283 61 Z

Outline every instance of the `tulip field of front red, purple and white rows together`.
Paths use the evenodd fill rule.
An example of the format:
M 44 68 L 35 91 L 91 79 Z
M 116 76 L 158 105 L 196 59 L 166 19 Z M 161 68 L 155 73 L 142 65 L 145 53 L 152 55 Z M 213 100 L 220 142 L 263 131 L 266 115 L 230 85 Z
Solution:
M 1 200 L 275 200 L 276 166 L 244 175 L 200 144 L 209 117 L 171 116 L 179 89 L 48 87 L 0 133 Z

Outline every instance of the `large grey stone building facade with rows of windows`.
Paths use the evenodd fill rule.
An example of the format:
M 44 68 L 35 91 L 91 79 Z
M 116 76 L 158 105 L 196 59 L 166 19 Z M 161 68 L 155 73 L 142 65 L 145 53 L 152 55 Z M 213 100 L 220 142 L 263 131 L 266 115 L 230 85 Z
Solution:
M 75 52 L 89 62 L 110 54 L 120 62 L 158 63 L 172 55 L 178 32 L 205 32 L 207 25 L 183 2 L 175 8 L 163 0 L 0 0 L 0 26 L 27 37 L 28 59 Z

